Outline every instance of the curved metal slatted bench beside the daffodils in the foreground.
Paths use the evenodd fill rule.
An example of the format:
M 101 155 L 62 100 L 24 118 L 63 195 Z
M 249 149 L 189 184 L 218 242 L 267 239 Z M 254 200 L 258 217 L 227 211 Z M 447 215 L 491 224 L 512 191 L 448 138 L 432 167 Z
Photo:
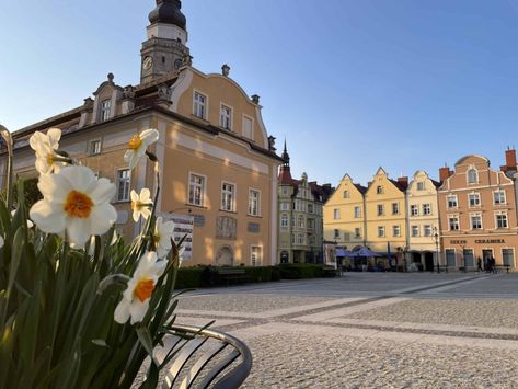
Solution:
M 252 354 L 239 339 L 193 327 L 173 328 L 154 357 L 166 367 L 162 389 L 237 389 L 252 369 Z

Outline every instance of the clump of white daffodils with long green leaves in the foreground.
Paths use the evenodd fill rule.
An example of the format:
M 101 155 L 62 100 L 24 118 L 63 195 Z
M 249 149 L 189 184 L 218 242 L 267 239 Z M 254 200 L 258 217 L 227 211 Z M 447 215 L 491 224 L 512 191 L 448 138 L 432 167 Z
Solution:
M 10 156 L 0 199 L 0 388 L 130 388 L 174 331 L 181 248 L 173 224 L 154 215 L 160 169 L 148 147 L 159 133 L 135 135 L 120 161 L 154 164 L 154 193 L 135 187 L 131 202 L 116 205 L 116 186 L 62 151 L 59 129 L 34 133 L 43 198 L 30 209 L 21 180 L 13 198 L 13 140 L 1 125 L 0 136 Z M 120 208 L 139 224 L 130 244 L 115 232 Z M 145 387 L 157 387 L 161 368 L 150 367 Z

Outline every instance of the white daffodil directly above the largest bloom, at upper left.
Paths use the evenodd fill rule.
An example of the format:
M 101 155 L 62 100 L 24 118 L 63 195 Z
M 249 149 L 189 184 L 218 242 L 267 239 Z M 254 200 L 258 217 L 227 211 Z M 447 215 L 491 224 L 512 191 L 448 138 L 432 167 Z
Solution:
M 28 139 L 31 148 L 36 153 L 36 170 L 41 174 L 48 174 L 58 172 L 64 165 L 62 158 L 60 158 L 56 150 L 59 147 L 59 139 L 61 139 L 61 130 L 59 128 L 50 128 L 47 134 L 35 131 Z

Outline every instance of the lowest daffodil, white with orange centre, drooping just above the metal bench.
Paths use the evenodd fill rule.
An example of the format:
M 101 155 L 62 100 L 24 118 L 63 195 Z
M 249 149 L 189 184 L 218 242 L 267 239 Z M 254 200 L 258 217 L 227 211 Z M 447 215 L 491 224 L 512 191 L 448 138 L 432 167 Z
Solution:
M 158 279 L 165 271 L 168 261 L 157 261 L 157 253 L 149 251 L 138 262 L 128 287 L 123 293 L 123 299 L 115 308 L 114 319 L 124 324 L 131 318 L 130 323 L 142 321 L 149 308 L 149 300 L 153 294 Z

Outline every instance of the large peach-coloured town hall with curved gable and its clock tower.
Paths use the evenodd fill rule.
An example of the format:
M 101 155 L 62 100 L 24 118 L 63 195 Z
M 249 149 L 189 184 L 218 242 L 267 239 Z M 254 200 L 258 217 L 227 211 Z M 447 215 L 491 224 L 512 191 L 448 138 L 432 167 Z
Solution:
M 116 228 L 130 239 L 140 228 L 131 220 L 130 191 L 156 182 L 150 161 L 130 171 L 123 156 L 134 135 L 157 128 L 152 151 L 163 176 L 157 211 L 189 216 L 194 224 L 185 265 L 274 264 L 281 159 L 258 95 L 250 96 L 227 65 L 219 73 L 193 67 L 181 1 L 157 1 L 149 22 L 140 83 L 117 85 L 111 73 L 80 106 L 15 131 L 15 172 L 35 176 L 30 136 L 60 128 L 62 148 L 117 185 Z M 5 171 L 5 155 L 0 168 Z

